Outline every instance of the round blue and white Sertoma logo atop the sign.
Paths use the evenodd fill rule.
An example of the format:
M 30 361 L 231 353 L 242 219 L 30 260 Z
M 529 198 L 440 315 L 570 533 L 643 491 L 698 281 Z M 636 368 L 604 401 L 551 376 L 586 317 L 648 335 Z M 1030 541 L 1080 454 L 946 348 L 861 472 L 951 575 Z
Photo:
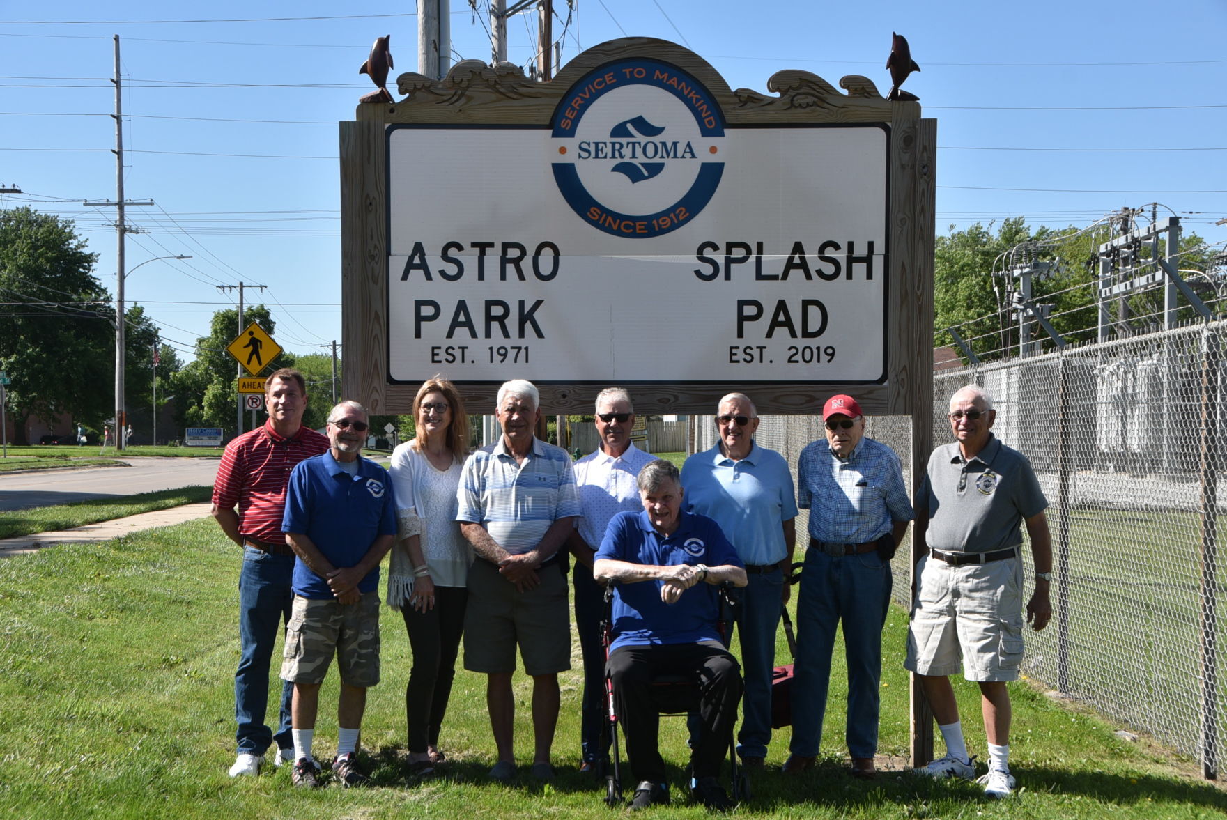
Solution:
M 551 136 L 558 191 L 612 236 L 676 231 L 724 174 L 723 112 L 694 77 L 659 60 L 620 60 L 582 77 L 555 109 Z

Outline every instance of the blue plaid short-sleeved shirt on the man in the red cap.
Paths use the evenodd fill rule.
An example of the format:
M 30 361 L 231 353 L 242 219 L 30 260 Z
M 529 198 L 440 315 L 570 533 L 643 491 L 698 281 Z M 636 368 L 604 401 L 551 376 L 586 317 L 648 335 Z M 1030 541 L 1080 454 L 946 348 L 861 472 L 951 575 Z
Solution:
M 834 544 L 866 544 L 915 518 L 899 457 L 872 438 L 847 460 L 826 441 L 807 444 L 796 462 L 796 506 L 810 511 L 810 538 Z

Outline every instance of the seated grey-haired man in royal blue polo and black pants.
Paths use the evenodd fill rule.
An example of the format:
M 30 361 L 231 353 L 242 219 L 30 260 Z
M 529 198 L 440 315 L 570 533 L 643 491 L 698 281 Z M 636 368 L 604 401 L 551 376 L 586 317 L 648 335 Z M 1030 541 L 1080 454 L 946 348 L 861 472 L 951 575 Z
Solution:
M 605 670 L 639 782 L 631 808 L 669 803 L 650 694 L 652 680 L 667 674 L 693 675 L 702 690 L 691 794 L 709 809 L 728 809 L 715 776 L 742 687 L 737 662 L 720 641 L 717 587 L 745 587 L 746 571 L 715 522 L 682 511 L 681 475 L 671 462 L 645 465 L 637 486 L 643 512 L 620 512 L 610 520 L 593 565 L 598 583 L 617 584 Z M 638 583 L 644 581 L 650 583 Z

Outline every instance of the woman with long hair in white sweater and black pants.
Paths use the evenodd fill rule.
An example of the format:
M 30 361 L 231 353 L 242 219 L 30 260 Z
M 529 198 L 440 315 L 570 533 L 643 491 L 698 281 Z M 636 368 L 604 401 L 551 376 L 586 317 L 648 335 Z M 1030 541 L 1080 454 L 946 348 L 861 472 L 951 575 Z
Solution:
M 472 549 L 455 522 L 469 417 L 455 385 L 427 379 L 413 398 L 416 437 L 391 454 L 399 516 L 388 605 L 405 617 L 413 667 L 405 687 L 409 764 L 421 775 L 443 761 L 439 725 L 448 708 L 464 632 Z

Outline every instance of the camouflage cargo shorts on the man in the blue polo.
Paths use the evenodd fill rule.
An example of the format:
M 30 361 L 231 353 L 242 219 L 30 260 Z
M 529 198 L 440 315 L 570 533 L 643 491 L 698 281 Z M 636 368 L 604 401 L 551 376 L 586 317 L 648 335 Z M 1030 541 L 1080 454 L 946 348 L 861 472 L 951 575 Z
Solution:
M 379 683 L 379 593 L 364 593 L 356 604 L 294 595 L 286 625 L 282 680 L 324 683 L 334 654 L 344 683 Z

